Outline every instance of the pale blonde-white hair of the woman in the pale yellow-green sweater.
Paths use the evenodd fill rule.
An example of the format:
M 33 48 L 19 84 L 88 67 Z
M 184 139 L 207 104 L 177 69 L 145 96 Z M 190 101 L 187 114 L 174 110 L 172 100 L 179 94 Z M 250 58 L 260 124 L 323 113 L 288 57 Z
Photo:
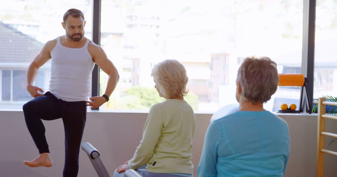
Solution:
M 188 77 L 183 64 L 177 60 L 164 60 L 152 69 L 151 76 L 166 99 L 183 98 L 187 95 Z

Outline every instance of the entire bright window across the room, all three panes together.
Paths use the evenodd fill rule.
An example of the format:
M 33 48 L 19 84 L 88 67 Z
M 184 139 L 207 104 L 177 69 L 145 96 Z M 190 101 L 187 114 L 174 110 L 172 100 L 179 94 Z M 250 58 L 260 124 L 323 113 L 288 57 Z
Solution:
M 64 35 L 62 16 L 69 8 L 86 17 L 92 35 L 93 0 L 7 0 L 0 6 L 0 107 L 20 108 L 31 99 L 25 72 L 45 42 Z M 120 73 L 103 110 L 148 110 L 163 101 L 153 88 L 153 66 L 177 59 L 187 69 L 186 100 L 195 111 L 216 111 L 236 103 L 236 74 L 247 56 L 268 56 L 279 73 L 300 73 L 303 0 L 101 0 L 100 44 Z M 336 2 L 317 0 L 314 98 L 337 91 Z M 336 23 L 336 24 L 335 24 Z M 307 37 L 305 37 L 307 38 Z M 50 62 L 35 85 L 48 91 Z M 107 75 L 100 71 L 99 92 Z M 265 108 L 298 105 L 299 87 L 279 87 Z

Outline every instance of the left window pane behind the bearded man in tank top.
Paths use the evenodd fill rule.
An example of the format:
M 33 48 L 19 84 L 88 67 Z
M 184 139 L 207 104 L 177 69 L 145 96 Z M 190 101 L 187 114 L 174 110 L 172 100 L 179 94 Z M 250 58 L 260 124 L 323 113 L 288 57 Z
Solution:
M 65 35 L 63 14 L 78 8 L 91 39 L 92 0 L 7 0 L 0 6 L 0 108 L 21 108 L 32 97 L 26 91 L 28 65 L 43 44 Z M 48 91 L 51 61 L 39 69 L 35 85 Z

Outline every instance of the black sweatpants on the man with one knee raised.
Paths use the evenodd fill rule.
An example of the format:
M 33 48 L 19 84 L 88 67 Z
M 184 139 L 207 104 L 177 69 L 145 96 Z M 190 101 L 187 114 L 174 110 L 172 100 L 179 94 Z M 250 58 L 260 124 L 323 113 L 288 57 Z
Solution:
M 85 101 L 67 102 L 57 99 L 50 92 L 23 105 L 27 128 L 39 150 L 49 153 L 45 128 L 41 121 L 62 118 L 65 134 L 65 163 L 63 177 L 75 177 L 79 171 L 79 153 L 87 109 Z

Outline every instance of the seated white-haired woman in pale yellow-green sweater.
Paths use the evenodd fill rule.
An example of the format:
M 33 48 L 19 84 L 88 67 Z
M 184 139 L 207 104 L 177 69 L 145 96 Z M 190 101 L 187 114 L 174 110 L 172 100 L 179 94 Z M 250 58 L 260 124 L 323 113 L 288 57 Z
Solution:
M 151 107 L 140 145 L 114 176 L 124 176 L 121 172 L 134 169 L 146 177 L 192 177 L 195 115 L 184 100 L 188 92 L 186 69 L 177 60 L 164 60 L 154 66 L 151 76 L 159 96 L 166 100 Z M 138 169 L 146 164 L 146 170 Z

